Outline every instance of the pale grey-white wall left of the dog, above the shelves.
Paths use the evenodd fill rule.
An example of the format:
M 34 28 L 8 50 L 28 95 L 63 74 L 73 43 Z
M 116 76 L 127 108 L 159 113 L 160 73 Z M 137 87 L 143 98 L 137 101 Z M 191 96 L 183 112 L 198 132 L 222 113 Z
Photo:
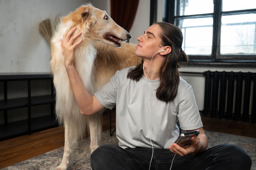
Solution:
M 49 72 L 50 48 L 39 23 L 67 15 L 85 0 L 0 0 L 0 73 Z

